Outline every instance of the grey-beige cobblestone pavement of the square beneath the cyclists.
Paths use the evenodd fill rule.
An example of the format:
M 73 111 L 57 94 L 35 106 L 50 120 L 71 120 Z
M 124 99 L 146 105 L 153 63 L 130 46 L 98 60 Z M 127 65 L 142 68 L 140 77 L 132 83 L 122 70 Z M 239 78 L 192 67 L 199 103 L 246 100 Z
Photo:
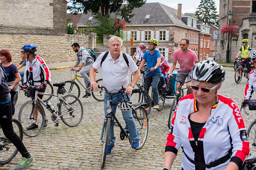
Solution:
M 225 67 L 226 80 L 222 83 L 219 94 L 234 99 L 238 105 L 244 98 L 246 79 L 236 84 L 234 70 Z M 71 79 L 69 69 L 52 70 L 52 83 Z M 101 73 L 98 73 L 97 79 Z M 57 89 L 54 88 L 56 92 Z M 82 95 L 84 90 L 82 90 Z M 81 97 L 80 97 L 81 98 Z M 15 117 L 18 117 L 21 105 L 29 98 L 20 92 L 16 105 Z M 56 99 L 50 101 L 54 104 Z M 84 117 L 77 127 L 70 128 L 60 121 L 58 127 L 50 120 L 51 115 L 45 111 L 49 118 L 49 124 L 34 138 L 24 136 L 23 142 L 35 158 L 35 162 L 29 169 L 100 169 L 102 144 L 100 134 L 103 123 L 103 103 L 94 98 L 81 98 L 84 107 Z M 107 155 L 105 169 L 161 169 L 164 161 L 164 149 L 168 133 L 167 120 L 172 99 L 166 99 L 163 111 L 153 111 L 149 117 L 149 133 L 145 146 L 141 150 L 130 147 L 129 141 L 119 139 L 120 130 L 115 127 L 116 147 L 113 153 Z M 122 120 L 122 114 L 117 114 Z M 254 120 L 254 115 L 243 114 L 246 127 Z M 20 162 L 18 154 L 9 164 L 0 166 L 0 169 L 14 169 Z M 180 151 L 175 159 L 172 169 L 181 169 Z

